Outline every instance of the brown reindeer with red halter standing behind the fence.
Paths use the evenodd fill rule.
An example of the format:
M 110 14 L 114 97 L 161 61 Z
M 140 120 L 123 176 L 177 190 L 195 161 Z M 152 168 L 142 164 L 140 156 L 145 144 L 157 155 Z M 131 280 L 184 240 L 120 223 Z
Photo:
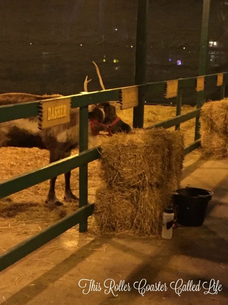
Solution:
M 90 81 L 90 80 L 89 80 Z M 88 77 L 84 83 L 87 90 Z M 39 101 L 45 99 L 59 98 L 61 95 L 31 95 L 26 93 L 0 94 L 0 108 L 3 105 Z M 89 106 L 89 143 L 100 131 L 108 131 L 108 135 L 118 132 L 129 133 L 131 128 L 124 123 L 116 114 L 115 106 L 108 103 L 102 105 L 104 114 L 97 105 Z M 0 110 L 1 111 L 1 110 Z M 106 123 L 104 123 L 104 121 Z M 79 108 L 70 110 L 70 121 L 67 124 L 54 126 L 44 130 L 38 128 L 39 119 L 36 116 L 16 119 L 0 124 L 0 147 L 38 147 L 50 151 L 50 163 L 69 157 L 71 150 L 79 146 Z M 93 143 L 94 144 L 94 143 Z M 96 146 L 96 145 L 95 145 Z M 55 206 L 63 203 L 55 195 L 55 181 L 57 177 L 50 180 L 50 188 L 46 203 Z M 65 173 L 64 200 L 77 199 L 70 189 L 70 171 Z

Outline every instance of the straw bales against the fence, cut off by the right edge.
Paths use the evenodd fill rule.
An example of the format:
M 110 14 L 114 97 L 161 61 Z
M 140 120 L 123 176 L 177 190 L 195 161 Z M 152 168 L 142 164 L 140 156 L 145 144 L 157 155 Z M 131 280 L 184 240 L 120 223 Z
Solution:
M 208 102 L 200 113 L 203 153 L 216 158 L 226 157 L 228 149 L 228 99 Z

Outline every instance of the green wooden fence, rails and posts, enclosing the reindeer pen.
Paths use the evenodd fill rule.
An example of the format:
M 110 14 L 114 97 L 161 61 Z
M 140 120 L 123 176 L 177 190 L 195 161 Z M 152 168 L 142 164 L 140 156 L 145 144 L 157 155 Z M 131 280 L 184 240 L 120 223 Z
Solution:
M 181 103 L 182 103 L 182 88 L 188 86 L 196 86 L 197 77 L 191 77 L 186 79 L 178 79 L 178 93 L 177 93 L 177 116 L 170 118 L 161 123 L 155 124 L 152 127 L 163 127 L 175 129 L 180 128 L 180 124 L 186 120 L 192 118 L 199 118 L 200 108 L 194 111 L 181 115 Z M 216 86 L 217 74 L 206 75 L 205 82 L 210 81 L 212 85 Z M 150 93 L 151 95 L 161 93 L 164 95 L 166 81 L 153 82 L 140 84 L 139 94 Z M 221 85 L 221 98 L 224 97 L 224 88 L 228 83 L 228 73 L 223 73 L 223 83 Z M 0 257 L 0 270 L 7 268 L 19 259 L 28 255 L 32 251 L 45 245 L 48 241 L 62 234 L 69 228 L 79 224 L 80 232 L 84 232 L 87 229 L 88 217 L 93 213 L 93 204 L 88 203 L 88 163 L 92 162 L 100 157 L 100 147 L 92 149 L 88 148 L 88 106 L 95 103 L 103 103 L 108 101 L 118 101 L 121 88 L 105 90 L 102 92 L 89 93 L 87 95 L 73 95 L 71 98 L 71 107 L 80 108 L 80 153 L 78 156 L 71 156 L 60 161 L 51 163 L 50 165 L 35 169 L 21 175 L 15 176 L 10 179 L 6 179 L 0 183 L 0 198 L 6 197 L 13 193 L 19 192 L 23 189 L 31 187 L 35 184 L 39 184 L 42 181 L 55 177 L 64 172 L 68 172 L 74 168 L 80 168 L 80 204 L 79 209 L 72 215 L 67 216 L 60 221 L 56 222 L 52 226 L 43 230 L 39 234 L 19 243 L 19 245 L 7 251 Z M 61 99 L 61 98 L 58 98 Z M 39 101 L 12 104 L 7 106 L 0 106 L 0 123 L 5 121 L 26 118 L 39 114 Z M 140 105 L 141 107 L 141 105 Z M 137 107 L 136 107 L 137 108 Z M 140 115 L 142 111 L 134 112 L 133 121 L 139 122 L 140 119 L 136 119 L 135 116 Z M 196 139 L 193 143 L 185 147 L 185 155 L 196 149 L 200 145 L 200 139 Z

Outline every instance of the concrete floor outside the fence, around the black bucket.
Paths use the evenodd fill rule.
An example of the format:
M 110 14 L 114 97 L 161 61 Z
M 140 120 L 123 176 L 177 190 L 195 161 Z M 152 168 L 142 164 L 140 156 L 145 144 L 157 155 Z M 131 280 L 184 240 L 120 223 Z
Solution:
M 182 186 L 214 192 L 203 226 L 178 227 L 170 240 L 101 238 L 70 229 L 1 273 L 0 304 L 227 305 L 228 159 L 191 156 Z M 79 287 L 82 279 L 87 280 L 81 281 L 81 286 L 87 283 L 84 288 Z M 89 280 L 95 281 L 90 292 Z M 159 282 L 164 286 L 144 293 L 136 289 L 140 281 L 141 287 L 143 281 L 151 289 Z M 114 283 L 117 291 L 110 289 Z

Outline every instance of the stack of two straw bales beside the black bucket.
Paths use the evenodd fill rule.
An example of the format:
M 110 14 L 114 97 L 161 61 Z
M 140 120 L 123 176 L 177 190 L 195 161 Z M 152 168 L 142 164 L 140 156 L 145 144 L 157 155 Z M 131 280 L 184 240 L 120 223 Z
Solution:
M 118 134 L 102 145 L 102 187 L 95 222 L 102 232 L 159 232 L 171 192 L 179 187 L 183 136 L 165 129 Z

